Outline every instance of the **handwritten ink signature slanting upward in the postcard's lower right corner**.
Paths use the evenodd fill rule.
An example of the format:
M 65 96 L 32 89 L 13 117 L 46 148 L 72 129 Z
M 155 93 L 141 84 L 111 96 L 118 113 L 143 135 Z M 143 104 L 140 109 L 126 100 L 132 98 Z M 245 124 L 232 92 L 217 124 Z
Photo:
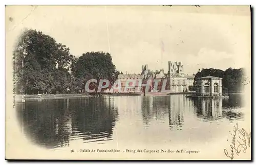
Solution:
M 226 157 L 229 157 L 231 160 L 234 158 L 234 152 L 238 156 L 240 155 L 241 151 L 246 153 L 246 149 L 251 145 L 251 132 L 247 133 L 244 128 L 240 129 L 238 127 L 238 123 L 233 127 L 233 132 L 229 133 L 232 135 L 232 141 L 230 144 L 230 151 L 228 152 L 227 149 L 224 149 L 224 153 Z

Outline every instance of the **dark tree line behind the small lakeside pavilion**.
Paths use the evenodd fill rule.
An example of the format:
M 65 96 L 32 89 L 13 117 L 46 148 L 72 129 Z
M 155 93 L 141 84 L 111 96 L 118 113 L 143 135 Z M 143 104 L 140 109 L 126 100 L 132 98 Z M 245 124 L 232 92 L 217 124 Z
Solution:
M 189 88 L 195 89 L 197 79 L 205 76 L 214 76 L 222 78 L 222 89 L 228 92 L 239 92 L 243 90 L 243 83 L 245 81 L 244 68 L 234 69 L 228 68 L 225 71 L 221 69 L 206 68 L 198 72 L 194 78 L 194 86 Z M 189 89 L 189 90 L 190 90 Z

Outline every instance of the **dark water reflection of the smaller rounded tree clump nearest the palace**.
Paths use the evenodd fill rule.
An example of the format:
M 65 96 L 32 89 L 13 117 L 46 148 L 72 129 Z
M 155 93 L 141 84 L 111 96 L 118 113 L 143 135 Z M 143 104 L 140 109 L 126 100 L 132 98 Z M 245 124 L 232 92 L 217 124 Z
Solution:
M 81 138 L 84 143 L 111 140 L 118 111 L 113 100 L 93 99 L 82 101 L 73 109 L 72 139 Z

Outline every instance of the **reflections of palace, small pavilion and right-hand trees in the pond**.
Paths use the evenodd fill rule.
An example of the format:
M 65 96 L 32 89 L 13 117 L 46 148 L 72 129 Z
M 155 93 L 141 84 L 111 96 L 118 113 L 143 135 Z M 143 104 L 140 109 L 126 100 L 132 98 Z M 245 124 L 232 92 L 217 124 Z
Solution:
M 237 111 L 242 106 L 238 96 L 219 99 L 188 99 L 177 96 L 148 96 L 141 100 L 141 114 L 144 127 L 150 127 L 152 121 L 164 121 L 168 118 L 169 129 L 182 130 L 184 115 L 193 115 L 202 121 L 217 121 L 242 119 L 242 112 Z M 186 113 L 186 114 L 185 114 Z

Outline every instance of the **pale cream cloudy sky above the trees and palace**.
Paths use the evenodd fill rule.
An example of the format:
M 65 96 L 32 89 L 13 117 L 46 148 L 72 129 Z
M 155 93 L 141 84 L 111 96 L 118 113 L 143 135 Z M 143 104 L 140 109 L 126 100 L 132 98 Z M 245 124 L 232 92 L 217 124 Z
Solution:
M 109 52 L 123 73 L 179 61 L 186 74 L 250 63 L 248 6 L 7 6 L 10 50 L 24 29 L 42 31 L 81 56 Z M 250 64 L 249 64 L 250 65 Z

